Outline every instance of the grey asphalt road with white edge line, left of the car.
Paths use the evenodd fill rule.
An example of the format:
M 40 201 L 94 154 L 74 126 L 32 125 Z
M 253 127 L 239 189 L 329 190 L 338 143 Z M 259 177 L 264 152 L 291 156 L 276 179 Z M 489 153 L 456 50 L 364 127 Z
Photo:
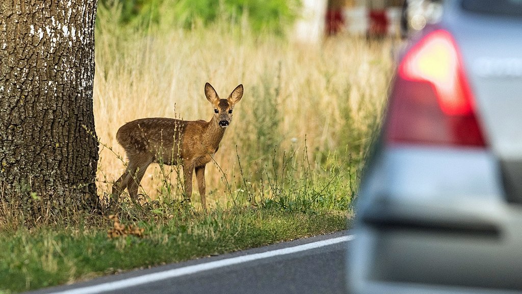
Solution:
M 348 231 L 31 293 L 346 293 Z

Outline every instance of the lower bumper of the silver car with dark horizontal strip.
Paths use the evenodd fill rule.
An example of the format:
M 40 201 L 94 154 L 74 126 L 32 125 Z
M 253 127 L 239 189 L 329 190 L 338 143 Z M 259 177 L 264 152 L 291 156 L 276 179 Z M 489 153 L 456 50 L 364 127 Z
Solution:
M 469 203 L 437 216 L 440 209 L 360 219 L 348 256 L 353 293 L 519 292 L 522 211 Z

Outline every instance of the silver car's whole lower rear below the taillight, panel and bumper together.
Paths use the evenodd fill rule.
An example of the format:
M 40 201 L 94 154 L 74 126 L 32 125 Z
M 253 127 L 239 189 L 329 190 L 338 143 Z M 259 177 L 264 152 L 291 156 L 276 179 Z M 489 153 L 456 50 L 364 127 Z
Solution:
M 366 174 L 348 254 L 352 293 L 522 289 L 522 211 L 485 150 L 391 148 Z

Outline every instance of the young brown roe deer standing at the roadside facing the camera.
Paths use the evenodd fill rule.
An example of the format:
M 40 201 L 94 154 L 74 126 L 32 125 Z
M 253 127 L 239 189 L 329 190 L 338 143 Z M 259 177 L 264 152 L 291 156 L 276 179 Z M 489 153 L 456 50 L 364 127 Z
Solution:
M 205 165 L 218 151 L 219 142 L 232 120 L 232 109 L 243 97 L 243 85 L 237 86 L 227 99 L 220 99 L 216 90 L 206 83 L 205 96 L 214 107 L 214 115 L 208 122 L 142 118 L 127 122 L 118 130 L 116 140 L 125 149 L 128 165 L 112 186 L 112 201 L 116 202 L 125 188 L 136 199 L 147 167 L 153 162 L 162 162 L 182 165 L 188 199 L 192 196 L 192 173 L 196 170 L 201 205 L 206 210 Z

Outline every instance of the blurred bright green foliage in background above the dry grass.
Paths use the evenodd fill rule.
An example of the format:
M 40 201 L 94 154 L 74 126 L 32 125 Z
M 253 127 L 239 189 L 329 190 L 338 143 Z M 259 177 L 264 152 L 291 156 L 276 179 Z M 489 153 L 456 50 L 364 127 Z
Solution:
M 282 34 L 301 7 L 300 0 L 100 0 L 102 8 L 120 8 L 114 19 L 129 27 L 191 28 L 227 21 L 256 32 Z M 243 17 L 245 16 L 245 17 Z

